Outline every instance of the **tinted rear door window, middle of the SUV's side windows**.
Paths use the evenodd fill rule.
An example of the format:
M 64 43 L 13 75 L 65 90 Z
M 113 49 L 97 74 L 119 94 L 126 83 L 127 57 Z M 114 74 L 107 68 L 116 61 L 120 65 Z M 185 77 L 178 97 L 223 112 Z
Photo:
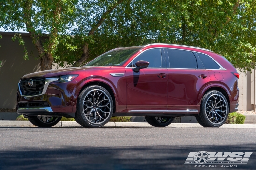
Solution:
M 197 68 L 197 60 L 191 51 L 167 49 L 170 68 Z

